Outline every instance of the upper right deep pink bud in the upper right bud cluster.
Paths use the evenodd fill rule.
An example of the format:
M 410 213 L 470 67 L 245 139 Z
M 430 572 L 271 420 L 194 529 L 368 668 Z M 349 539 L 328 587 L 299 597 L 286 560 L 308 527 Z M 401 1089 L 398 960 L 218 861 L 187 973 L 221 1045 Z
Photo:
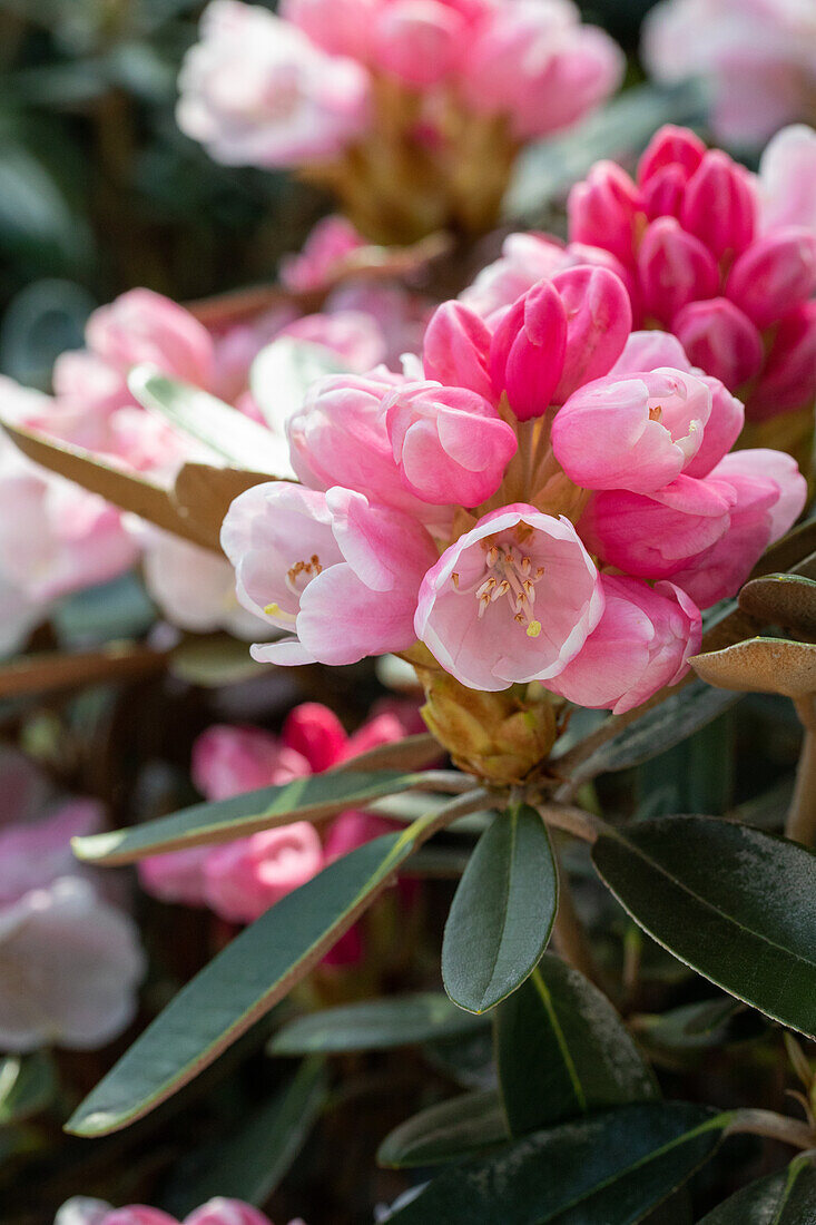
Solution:
M 689 180 L 680 221 L 716 260 L 740 255 L 754 238 L 756 198 L 749 173 L 720 149 L 711 149 Z

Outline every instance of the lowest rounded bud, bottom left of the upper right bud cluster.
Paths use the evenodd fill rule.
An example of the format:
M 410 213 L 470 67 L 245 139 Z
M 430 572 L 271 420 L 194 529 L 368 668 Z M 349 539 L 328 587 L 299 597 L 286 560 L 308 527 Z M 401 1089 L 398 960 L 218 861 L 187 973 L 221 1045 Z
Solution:
M 673 331 L 695 366 L 736 391 L 762 366 L 762 338 L 728 298 L 690 303 L 673 322 Z

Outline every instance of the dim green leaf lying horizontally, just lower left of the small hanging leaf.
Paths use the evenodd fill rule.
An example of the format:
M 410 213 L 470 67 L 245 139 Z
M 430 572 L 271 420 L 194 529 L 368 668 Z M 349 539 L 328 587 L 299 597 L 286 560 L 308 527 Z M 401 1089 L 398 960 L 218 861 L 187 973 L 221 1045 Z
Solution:
M 484 1029 L 486 1018 L 451 1003 L 441 991 L 323 1008 L 290 1022 L 270 1044 L 273 1055 L 387 1050 Z

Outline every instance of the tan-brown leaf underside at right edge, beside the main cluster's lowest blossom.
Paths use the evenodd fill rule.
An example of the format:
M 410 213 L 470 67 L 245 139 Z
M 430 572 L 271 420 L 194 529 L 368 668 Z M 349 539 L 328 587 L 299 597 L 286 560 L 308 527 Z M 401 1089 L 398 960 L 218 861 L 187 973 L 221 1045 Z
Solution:
M 816 691 L 816 646 L 785 638 L 749 638 L 690 660 L 708 685 L 747 693 L 805 697 Z

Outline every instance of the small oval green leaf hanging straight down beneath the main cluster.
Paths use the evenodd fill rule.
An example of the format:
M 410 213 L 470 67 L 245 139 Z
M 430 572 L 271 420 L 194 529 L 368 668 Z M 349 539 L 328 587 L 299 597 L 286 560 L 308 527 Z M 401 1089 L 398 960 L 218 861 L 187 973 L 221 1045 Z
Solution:
M 557 872 L 544 822 L 528 805 L 483 833 L 445 926 L 442 980 L 455 1003 L 486 1012 L 521 986 L 550 938 Z

